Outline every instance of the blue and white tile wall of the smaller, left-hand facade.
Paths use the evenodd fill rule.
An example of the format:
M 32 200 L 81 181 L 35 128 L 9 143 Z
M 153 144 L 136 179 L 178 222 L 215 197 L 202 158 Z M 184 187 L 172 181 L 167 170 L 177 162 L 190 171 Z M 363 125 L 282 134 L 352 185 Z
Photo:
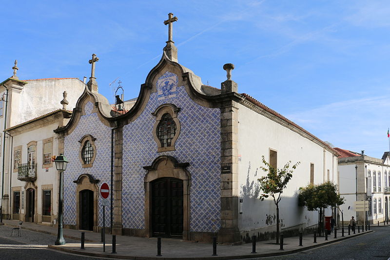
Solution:
M 96 113 L 91 113 L 94 105 L 87 102 L 84 106 L 85 115 L 81 116 L 75 130 L 65 137 L 64 155 L 69 163 L 64 171 L 64 223 L 76 225 L 76 186 L 74 180 L 81 174 L 88 173 L 95 179 L 100 180 L 98 185 L 106 182 L 110 185 L 111 180 L 111 128 L 105 126 L 98 118 Z M 96 158 L 93 167 L 82 168 L 78 157 L 80 143 L 83 136 L 91 135 L 95 140 Z M 103 207 L 99 198 L 98 205 L 98 225 L 103 225 Z M 110 226 L 109 210 L 106 210 L 106 226 Z

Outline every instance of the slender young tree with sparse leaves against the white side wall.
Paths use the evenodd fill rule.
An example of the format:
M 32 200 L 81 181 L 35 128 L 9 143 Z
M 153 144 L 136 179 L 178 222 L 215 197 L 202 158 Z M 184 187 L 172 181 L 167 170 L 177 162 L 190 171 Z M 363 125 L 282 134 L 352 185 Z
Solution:
M 271 196 L 273 202 L 276 206 L 276 243 L 279 243 L 279 202 L 281 200 L 281 195 L 283 190 L 286 188 L 287 183 L 292 178 L 292 173 L 298 166 L 299 161 L 291 166 L 291 161 L 288 161 L 283 168 L 274 168 L 271 166 L 265 159 L 264 155 L 261 157 L 265 167 L 260 166 L 264 172 L 267 173 L 266 176 L 257 179 L 259 182 L 259 188 L 263 191 L 263 194 L 259 196 L 260 200 L 264 200 Z

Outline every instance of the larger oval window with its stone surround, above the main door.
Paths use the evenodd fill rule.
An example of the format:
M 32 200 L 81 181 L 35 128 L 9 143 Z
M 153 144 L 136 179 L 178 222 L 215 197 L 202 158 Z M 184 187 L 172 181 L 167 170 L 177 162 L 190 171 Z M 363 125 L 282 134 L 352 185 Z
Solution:
M 157 152 L 175 150 L 175 142 L 180 133 L 180 122 L 177 112 L 180 108 L 173 104 L 160 105 L 152 113 L 156 117 L 153 137 L 157 143 Z

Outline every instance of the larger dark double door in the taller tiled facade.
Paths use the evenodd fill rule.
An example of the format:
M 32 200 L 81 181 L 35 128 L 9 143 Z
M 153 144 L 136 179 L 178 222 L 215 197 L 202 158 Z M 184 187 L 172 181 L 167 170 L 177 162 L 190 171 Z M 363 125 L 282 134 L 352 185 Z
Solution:
M 152 182 L 152 234 L 183 236 L 183 180 L 160 178 Z

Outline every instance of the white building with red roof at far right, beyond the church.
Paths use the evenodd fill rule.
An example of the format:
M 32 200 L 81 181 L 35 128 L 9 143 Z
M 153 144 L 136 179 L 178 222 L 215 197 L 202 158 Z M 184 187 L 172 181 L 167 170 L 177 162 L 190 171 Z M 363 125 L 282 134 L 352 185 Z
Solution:
M 385 152 L 382 159 L 362 153 L 335 148 L 341 156 L 338 160 L 339 191 L 345 203 L 341 205 L 344 221 L 354 216 L 359 223 L 366 218 L 376 224 L 389 219 L 390 200 L 390 159 Z M 371 196 L 370 196 L 371 194 Z M 366 216 L 356 212 L 355 201 L 369 200 Z

